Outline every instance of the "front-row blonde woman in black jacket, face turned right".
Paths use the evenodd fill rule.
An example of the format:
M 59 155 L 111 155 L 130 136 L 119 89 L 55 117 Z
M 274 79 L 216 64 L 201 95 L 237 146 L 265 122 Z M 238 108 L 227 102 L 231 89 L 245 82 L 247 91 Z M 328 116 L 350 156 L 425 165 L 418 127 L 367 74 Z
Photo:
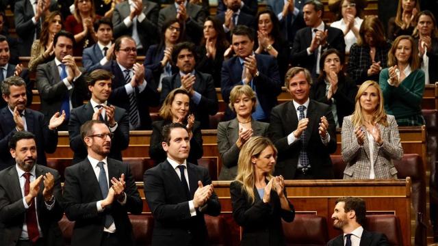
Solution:
M 292 222 L 283 176 L 272 176 L 277 150 L 267 137 L 251 137 L 239 154 L 237 177 L 230 184 L 233 218 L 242 226 L 242 246 L 286 245 L 281 219 Z

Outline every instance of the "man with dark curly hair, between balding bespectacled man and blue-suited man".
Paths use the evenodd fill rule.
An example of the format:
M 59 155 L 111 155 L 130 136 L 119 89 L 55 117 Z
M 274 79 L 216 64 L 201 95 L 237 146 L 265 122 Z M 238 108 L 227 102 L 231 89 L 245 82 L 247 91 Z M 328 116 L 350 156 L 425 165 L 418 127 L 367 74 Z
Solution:
M 201 122 L 201 128 L 207 129 L 209 128 L 209 115 L 215 115 L 218 112 L 218 97 L 213 77 L 194 70 L 196 59 L 196 47 L 193 43 L 182 42 L 173 47 L 172 61 L 179 68 L 179 72 L 163 79 L 160 101 L 164 102 L 170 91 L 183 87 L 192 96 L 190 111 L 194 113 L 194 118 Z

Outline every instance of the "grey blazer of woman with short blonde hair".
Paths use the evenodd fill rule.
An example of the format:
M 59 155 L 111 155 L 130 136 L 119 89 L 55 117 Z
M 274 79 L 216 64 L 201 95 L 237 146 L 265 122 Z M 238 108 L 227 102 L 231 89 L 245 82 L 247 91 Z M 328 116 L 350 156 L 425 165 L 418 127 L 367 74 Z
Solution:
M 268 137 L 268 123 L 251 120 L 253 136 Z M 235 142 L 239 138 L 239 122 L 237 118 L 218 124 L 218 149 L 222 159 L 219 180 L 234 180 L 237 175 L 237 160 L 240 149 Z

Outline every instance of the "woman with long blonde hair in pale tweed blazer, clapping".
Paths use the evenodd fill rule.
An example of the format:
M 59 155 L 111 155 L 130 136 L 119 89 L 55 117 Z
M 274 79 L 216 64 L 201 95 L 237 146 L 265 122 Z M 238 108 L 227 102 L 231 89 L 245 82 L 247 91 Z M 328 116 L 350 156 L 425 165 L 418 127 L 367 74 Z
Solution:
M 342 125 L 344 179 L 397 178 L 392 159 L 403 156 L 398 125 L 383 107 L 383 93 L 375 81 L 365 81 L 356 95 L 355 111 Z

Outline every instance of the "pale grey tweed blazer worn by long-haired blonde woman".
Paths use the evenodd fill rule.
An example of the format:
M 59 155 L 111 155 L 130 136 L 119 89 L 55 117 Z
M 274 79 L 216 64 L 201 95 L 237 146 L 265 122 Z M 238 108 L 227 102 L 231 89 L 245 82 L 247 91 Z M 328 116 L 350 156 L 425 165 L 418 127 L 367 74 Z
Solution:
M 402 159 L 403 148 L 400 142 L 396 118 L 387 115 L 388 126 L 378 124 L 383 139 L 383 145 L 374 144 L 373 159 L 374 174 L 376 178 L 397 178 L 397 169 L 391 159 Z M 366 129 L 361 126 L 364 131 Z M 357 143 L 352 125 L 351 115 L 344 118 L 342 124 L 342 159 L 347 163 L 344 170 L 344 179 L 368 179 L 370 178 L 370 142 L 365 136 L 363 146 Z

